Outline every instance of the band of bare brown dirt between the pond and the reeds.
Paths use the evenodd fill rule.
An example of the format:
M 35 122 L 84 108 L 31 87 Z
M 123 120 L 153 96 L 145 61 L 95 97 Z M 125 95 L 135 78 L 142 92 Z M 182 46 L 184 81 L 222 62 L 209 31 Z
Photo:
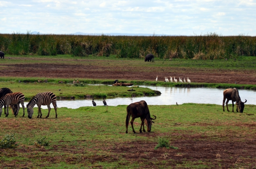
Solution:
M 135 67 L 129 63 L 124 67 L 115 66 L 111 61 L 83 61 L 35 64 L 4 64 L 1 76 L 6 77 L 60 77 L 60 78 L 92 78 L 92 79 L 127 79 L 127 80 L 150 80 L 158 76 L 159 81 L 164 77 L 179 77 L 182 80 L 187 77 L 191 82 L 205 83 L 235 83 L 256 84 L 255 70 L 220 70 L 206 68 L 179 68 L 179 67 Z M 78 64 L 77 64 L 78 63 Z M 80 63 L 80 64 L 79 64 Z M 89 64 L 90 63 L 90 64 Z M 110 63 L 110 64 L 109 64 Z M 127 66 L 128 65 L 128 66 Z

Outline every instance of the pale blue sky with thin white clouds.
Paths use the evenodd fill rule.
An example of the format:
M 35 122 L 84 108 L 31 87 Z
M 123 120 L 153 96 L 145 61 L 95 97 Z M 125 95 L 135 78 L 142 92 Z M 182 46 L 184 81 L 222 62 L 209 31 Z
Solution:
M 256 36 L 256 0 L 0 0 L 0 33 Z

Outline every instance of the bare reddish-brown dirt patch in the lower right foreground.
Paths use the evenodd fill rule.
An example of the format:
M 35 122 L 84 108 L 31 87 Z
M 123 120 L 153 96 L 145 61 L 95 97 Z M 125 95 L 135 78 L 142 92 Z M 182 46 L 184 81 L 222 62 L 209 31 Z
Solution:
M 154 150 L 157 143 L 152 142 L 131 142 L 117 144 L 112 152 L 122 154 L 122 156 L 130 161 L 140 161 L 148 159 L 153 167 L 153 162 L 158 160 L 171 159 L 168 165 L 183 164 L 188 161 L 198 162 L 202 164 L 211 163 L 212 168 L 234 167 L 235 165 L 255 167 L 256 162 L 256 145 L 252 142 L 213 142 L 213 141 L 193 141 L 178 140 L 172 142 L 172 145 L 179 147 L 179 150 L 159 148 Z M 252 167 L 250 166 L 250 168 Z M 253 168 L 253 167 L 252 167 Z

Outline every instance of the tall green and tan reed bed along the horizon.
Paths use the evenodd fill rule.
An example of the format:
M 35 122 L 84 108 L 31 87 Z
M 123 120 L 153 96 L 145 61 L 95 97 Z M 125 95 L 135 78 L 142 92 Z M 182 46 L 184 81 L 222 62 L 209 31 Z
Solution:
M 101 36 L 0 34 L 0 50 L 9 55 L 109 56 L 140 58 L 223 59 L 256 55 L 256 37 L 221 36 Z

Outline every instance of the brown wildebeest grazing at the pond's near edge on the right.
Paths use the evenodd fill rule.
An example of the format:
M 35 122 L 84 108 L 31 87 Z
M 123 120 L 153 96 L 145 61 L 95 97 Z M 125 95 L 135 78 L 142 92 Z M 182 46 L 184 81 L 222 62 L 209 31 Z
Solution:
M 225 104 L 225 100 L 227 99 L 227 102 L 226 102 L 227 110 L 228 110 L 228 101 L 231 100 L 232 101 L 232 106 L 233 106 L 232 112 L 234 112 L 234 101 L 235 101 L 236 102 L 236 106 L 237 106 L 236 107 L 236 112 L 238 112 L 237 111 L 237 108 L 238 108 L 239 112 L 243 113 L 243 111 L 244 111 L 244 103 L 246 103 L 247 100 L 245 99 L 245 102 L 241 101 L 239 93 L 238 93 L 238 90 L 236 88 L 224 90 L 223 96 L 224 96 L 223 103 L 222 103 L 223 112 L 225 112 L 224 104 Z M 229 110 L 228 110 L 228 112 L 229 112 Z

